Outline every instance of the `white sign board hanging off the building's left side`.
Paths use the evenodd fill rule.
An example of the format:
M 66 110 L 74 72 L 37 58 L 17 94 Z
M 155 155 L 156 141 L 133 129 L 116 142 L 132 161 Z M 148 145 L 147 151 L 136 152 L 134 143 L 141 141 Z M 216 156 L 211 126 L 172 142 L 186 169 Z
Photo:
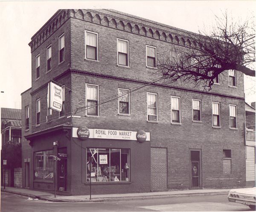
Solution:
M 61 112 L 62 109 L 62 88 L 55 83 L 48 84 L 48 108 Z

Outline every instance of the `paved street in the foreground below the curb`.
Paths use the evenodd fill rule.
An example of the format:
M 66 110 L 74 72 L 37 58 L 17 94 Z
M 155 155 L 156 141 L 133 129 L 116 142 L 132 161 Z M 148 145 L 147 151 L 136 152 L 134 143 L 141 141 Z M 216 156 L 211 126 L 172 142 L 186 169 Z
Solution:
M 227 195 L 200 195 L 106 202 L 48 202 L 1 192 L 1 212 L 101 212 L 101 211 L 250 211 L 230 203 Z

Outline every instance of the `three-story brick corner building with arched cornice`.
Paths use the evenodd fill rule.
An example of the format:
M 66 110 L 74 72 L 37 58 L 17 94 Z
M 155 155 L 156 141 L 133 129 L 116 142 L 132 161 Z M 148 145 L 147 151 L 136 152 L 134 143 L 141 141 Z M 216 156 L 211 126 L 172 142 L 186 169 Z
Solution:
M 156 80 L 157 57 L 193 48 L 191 35 L 109 9 L 58 10 L 29 43 L 23 186 L 53 191 L 54 155 L 67 195 L 90 182 L 94 194 L 244 186 L 242 74 L 224 72 L 210 92 Z M 47 106 L 49 82 L 62 86 L 61 112 Z

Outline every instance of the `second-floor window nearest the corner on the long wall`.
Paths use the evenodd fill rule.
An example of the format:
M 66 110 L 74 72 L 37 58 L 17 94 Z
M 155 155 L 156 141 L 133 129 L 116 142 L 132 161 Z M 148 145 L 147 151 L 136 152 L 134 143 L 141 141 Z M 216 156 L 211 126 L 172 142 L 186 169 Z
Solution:
M 99 115 L 99 86 L 86 84 L 86 114 Z

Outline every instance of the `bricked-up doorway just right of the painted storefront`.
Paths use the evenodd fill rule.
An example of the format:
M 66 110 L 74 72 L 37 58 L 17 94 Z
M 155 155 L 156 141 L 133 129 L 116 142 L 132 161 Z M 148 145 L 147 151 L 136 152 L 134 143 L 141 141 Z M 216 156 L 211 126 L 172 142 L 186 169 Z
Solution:
M 167 190 L 167 149 L 151 147 L 151 191 Z

